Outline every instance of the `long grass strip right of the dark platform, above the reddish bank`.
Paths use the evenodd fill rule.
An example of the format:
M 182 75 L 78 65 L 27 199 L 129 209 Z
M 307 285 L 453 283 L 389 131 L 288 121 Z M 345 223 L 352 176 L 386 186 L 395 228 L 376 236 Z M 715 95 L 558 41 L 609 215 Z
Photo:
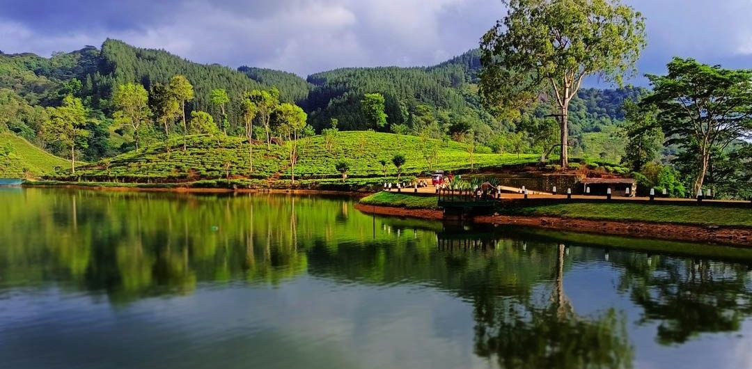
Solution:
M 581 219 L 635 220 L 698 225 L 741 225 L 752 227 L 752 208 L 664 204 L 550 204 L 508 207 L 507 215 L 562 216 Z

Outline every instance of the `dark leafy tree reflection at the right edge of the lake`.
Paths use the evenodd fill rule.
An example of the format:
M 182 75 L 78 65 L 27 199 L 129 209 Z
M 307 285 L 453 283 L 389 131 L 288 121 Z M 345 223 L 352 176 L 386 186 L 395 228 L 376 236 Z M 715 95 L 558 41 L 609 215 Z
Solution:
M 659 322 L 660 343 L 738 331 L 752 314 L 748 265 L 634 254 L 616 262 L 625 270 L 620 289 L 629 290 L 632 301 L 644 309 L 642 323 Z

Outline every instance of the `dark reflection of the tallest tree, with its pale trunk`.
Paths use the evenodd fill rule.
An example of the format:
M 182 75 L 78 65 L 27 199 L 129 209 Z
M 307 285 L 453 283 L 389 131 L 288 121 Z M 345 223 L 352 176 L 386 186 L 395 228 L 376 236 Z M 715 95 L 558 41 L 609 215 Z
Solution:
M 475 352 L 505 368 L 632 367 L 623 314 L 578 316 L 563 289 L 564 245 L 556 250 L 550 303 L 484 296 L 475 304 Z

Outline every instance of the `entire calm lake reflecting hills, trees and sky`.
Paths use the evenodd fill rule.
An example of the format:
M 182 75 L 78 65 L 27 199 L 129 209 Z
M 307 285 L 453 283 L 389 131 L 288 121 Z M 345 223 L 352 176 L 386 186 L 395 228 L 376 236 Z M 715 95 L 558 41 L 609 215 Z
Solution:
M 0 188 L 0 366 L 752 366 L 750 250 L 353 204 Z

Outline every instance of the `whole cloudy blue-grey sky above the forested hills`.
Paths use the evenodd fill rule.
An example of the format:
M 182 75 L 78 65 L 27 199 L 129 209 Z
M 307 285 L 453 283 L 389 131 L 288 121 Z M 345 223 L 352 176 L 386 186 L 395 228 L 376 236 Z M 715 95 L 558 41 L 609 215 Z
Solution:
M 625 2 L 647 17 L 640 74 L 663 71 L 675 55 L 752 68 L 752 0 Z M 432 65 L 477 47 L 504 14 L 500 0 L 0 0 L 0 50 L 49 56 L 109 37 L 306 76 Z

